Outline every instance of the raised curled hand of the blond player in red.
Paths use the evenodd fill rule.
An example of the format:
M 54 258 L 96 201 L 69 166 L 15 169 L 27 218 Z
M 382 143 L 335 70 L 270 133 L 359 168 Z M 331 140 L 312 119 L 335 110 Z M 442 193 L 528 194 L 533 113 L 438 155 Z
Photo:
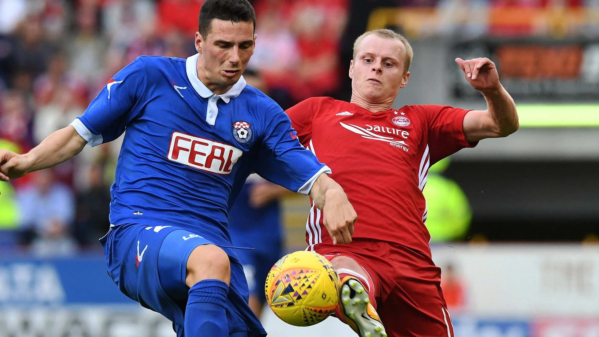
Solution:
M 464 76 L 472 88 L 483 94 L 501 88 L 497 67 L 490 59 L 476 58 L 464 61 L 456 58 L 455 62 L 464 71 Z

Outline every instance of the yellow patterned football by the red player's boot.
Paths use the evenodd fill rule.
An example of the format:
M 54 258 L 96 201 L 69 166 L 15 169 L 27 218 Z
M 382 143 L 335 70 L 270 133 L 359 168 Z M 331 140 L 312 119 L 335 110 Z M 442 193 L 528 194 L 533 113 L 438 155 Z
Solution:
M 339 301 L 335 268 L 320 254 L 297 251 L 282 257 L 268 273 L 268 305 L 286 323 L 311 326 L 332 314 Z

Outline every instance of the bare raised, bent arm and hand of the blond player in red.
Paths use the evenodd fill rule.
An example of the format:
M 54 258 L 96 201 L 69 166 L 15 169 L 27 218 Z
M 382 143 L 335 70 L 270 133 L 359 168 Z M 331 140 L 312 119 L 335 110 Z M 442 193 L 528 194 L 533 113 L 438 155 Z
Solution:
M 482 92 L 487 102 L 487 110 L 473 110 L 464 117 L 464 134 L 468 142 L 485 138 L 506 137 L 518 130 L 516 104 L 499 82 L 495 64 L 488 58 L 455 62 L 464 71 L 464 76 L 472 88 Z

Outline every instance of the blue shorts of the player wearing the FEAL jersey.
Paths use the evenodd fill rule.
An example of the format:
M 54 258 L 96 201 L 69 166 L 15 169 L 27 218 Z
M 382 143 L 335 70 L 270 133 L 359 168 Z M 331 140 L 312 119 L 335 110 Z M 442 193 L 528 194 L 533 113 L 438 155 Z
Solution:
M 120 291 L 173 321 L 177 337 L 184 337 L 189 291 L 185 284 L 187 258 L 197 246 L 212 242 L 176 226 L 147 224 L 113 227 L 100 242 L 106 254 L 108 275 Z M 229 260 L 231 284 L 226 303 L 229 336 L 265 336 L 262 324 L 247 304 L 249 291 L 243 268 L 236 258 L 229 256 Z

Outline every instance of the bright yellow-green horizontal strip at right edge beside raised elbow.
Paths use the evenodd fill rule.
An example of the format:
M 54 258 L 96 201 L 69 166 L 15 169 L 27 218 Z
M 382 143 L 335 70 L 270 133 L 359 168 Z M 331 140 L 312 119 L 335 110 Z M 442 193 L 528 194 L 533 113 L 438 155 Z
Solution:
M 525 128 L 599 127 L 599 104 L 518 104 Z

